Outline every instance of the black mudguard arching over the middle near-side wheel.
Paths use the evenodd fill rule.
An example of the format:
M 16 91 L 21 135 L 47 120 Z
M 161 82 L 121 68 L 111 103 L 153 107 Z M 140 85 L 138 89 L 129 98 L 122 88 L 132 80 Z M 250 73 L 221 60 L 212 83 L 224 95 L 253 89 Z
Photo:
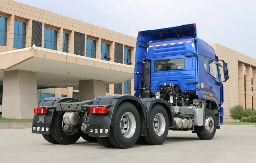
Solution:
M 150 113 L 154 104 L 161 104 L 164 106 L 169 118 L 169 127 L 173 126 L 173 113 L 172 113 L 170 104 L 167 101 L 162 99 L 157 99 L 157 98 L 144 98 L 144 99 L 141 99 L 141 101 L 143 105 L 146 107 L 146 126 L 148 126 L 149 124 Z

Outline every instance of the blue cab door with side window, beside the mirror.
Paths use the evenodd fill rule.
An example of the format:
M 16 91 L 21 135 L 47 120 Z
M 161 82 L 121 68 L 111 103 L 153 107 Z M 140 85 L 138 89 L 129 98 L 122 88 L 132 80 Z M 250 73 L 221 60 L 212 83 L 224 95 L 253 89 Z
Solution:
M 218 103 L 221 104 L 222 83 L 220 83 L 221 77 L 220 77 L 218 62 L 213 59 L 209 59 L 209 68 L 210 68 L 210 91 L 216 96 Z

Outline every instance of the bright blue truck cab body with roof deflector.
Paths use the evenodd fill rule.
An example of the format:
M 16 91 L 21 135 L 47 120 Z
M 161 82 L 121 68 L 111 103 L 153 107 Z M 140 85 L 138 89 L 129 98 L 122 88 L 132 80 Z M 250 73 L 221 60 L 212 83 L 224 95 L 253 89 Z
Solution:
M 218 104 L 223 103 L 223 86 L 219 67 L 217 77 L 210 73 L 211 63 L 217 64 L 215 51 L 197 38 L 196 24 L 138 32 L 134 90 L 139 97 L 143 90 L 143 63 L 150 62 L 150 92 L 158 86 L 173 83 L 182 92 L 201 90 L 213 94 Z M 208 71 L 206 71 L 206 69 Z M 200 75 L 199 75 L 200 74 Z M 203 99 L 199 94 L 198 98 Z

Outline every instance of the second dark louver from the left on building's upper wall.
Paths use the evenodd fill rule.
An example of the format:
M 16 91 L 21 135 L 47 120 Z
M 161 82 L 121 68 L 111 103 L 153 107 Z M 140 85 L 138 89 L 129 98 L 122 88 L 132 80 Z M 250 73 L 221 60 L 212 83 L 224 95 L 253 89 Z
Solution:
M 74 54 L 85 56 L 85 34 L 75 32 L 74 34 Z

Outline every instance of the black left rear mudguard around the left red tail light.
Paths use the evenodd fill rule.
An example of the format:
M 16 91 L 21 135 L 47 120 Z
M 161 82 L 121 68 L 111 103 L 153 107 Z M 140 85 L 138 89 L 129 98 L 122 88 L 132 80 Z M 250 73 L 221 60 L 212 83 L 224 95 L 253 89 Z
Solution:
M 33 124 L 50 124 L 52 125 L 55 116 L 56 116 L 56 105 L 62 102 L 81 102 L 81 100 L 77 98 L 69 98 L 69 97 L 50 97 L 45 98 L 43 101 L 38 105 L 40 107 L 47 107 L 48 111 L 47 114 L 34 114 Z

